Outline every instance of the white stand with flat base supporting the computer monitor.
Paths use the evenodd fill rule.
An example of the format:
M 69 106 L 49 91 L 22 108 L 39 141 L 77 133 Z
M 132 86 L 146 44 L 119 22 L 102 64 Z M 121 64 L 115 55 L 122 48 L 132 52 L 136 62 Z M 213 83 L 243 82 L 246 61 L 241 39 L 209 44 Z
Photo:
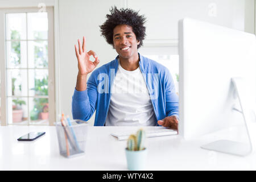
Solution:
M 255 104 L 255 92 L 249 93 L 253 88 L 247 88 L 248 84 L 246 84 L 246 81 L 243 78 L 232 78 L 232 82 L 240 101 L 242 109 L 241 113 L 243 114 L 243 120 L 245 121 L 249 143 L 235 142 L 232 140 L 217 140 L 205 144 L 204 146 L 201 146 L 201 148 L 226 154 L 246 156 L 251 154 L 256 148 L 256 116 L 255 111 L 253 110 L 253 105 Z M 255 83 L 250 83 L 249 85 L 254 86 L 254 84 Z

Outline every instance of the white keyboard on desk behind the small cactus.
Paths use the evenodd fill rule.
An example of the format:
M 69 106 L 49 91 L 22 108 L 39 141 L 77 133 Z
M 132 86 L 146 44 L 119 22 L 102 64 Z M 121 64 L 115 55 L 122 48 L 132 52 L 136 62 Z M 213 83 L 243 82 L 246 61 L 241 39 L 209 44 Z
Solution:
M 176 130 L 167 129 L 166 127 L 160 127 L 160 126 L 156 126 L 154 129 L 145 130 L 145 132 L 146 132 L 147 138 L 177 135 Z M 111 133 L 110 135 L 112 135 L 113 137 L 117 137 L 118 140 L 127 140 L 131 134 L 135 134 L 135 133 L 132 133 L 131 131 L 129 132 L 125 131 L 125 132 L 114 132 L 114 133 Z

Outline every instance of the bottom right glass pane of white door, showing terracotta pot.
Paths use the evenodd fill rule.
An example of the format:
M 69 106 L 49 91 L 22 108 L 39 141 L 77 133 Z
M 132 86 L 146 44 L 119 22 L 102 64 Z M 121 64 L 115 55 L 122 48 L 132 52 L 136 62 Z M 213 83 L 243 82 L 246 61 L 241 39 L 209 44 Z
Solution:
M 29 98 L 30 123 L 33 125 L 49 125 L 48 98 Z

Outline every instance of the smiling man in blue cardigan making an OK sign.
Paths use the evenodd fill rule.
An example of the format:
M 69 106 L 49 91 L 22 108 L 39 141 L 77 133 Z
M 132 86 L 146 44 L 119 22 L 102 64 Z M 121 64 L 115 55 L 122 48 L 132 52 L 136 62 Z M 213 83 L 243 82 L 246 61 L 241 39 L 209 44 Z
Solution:
M 162 125 L 177 130 L 179 100 L 170 72 L 138 53 L 146 36 L 144 16 L 116 7 L 110 13 L 100 28 L 118 53 L 115 60 L 94 70 L 100 60 L 94 51 L 86 52 L 85 38 L 82 45 L 78 40 L 78 48 L 75 45 L 79 73 L 72 97 L 73 119 L 88 121 L 96 110 L 94 126 Z

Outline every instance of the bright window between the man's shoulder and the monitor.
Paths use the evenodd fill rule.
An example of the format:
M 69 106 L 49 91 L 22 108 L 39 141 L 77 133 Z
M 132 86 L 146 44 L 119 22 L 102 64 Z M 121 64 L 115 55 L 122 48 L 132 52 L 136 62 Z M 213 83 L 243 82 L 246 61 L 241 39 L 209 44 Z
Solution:
M 174 80 L 176 93 L 179 94 L 179 53 L 177 46 L 141 47 L 139 53 L 169 69 Z

